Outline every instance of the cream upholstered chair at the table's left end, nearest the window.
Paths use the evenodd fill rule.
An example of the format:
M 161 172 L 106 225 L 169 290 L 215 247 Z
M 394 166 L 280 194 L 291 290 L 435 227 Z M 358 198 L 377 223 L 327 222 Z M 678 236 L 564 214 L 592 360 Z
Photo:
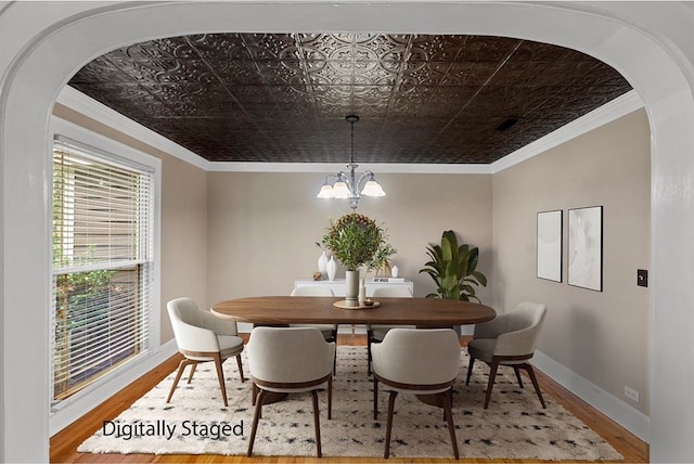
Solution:
M 172 299 L 166 305 L 166 309 L 174 327 L 178 350 L 184 357 L 178 366 L 178 373 L 166 402 L 168 403 L 171 400 L 181 374 L 183 374 L 188 365 L 192 365 L 188 377 L 188 383 L 190 384 L 197 364 L 211 361 L 217 369 L 219 388 L 221 389 L 224 405 L 229 405 L 224 386 L 224 373 L 221 368 L 222 362 L 229 358 L 236 357 L 241 382 L 245 382 L 241 361 L 243 339 L 237 336 L 236 323 L 217 318 L 211 312 L 200 309 L 191 298 Z

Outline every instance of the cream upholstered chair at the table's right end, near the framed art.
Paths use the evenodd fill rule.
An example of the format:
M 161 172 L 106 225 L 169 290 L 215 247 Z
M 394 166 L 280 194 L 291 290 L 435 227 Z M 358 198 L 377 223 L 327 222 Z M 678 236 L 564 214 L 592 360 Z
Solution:
M 523 388 L 523 381 L 520 379 L 519 371 L 522 369 L 525 370 L 530 376 L 542 408 L 547 408 L 532 364 L 527 362 L 535 353 L 545 313 L 547 307 L 544 305 L 525 301 L 519 304 L 514 311 L 497 315 L 489 322 L 475 325 L 473 339 L 467 344 L 470 364 L 467 365 L 465 385 L 470 384 L 473 364 L 476 359 L 489 364 L 490 371 L 485 409 L 489 405 L 494 377 L 500 365 L 513 368 L 520 388 Z

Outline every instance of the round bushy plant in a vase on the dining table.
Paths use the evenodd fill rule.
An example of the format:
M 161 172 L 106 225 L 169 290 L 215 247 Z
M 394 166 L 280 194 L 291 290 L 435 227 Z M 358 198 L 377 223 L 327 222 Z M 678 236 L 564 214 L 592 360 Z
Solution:
M 331 225 L 321 243 L 347 268 L 345 273 L 347 306 L 359 306 L 358 268 L 369 263 L 378 248 L 385 244 L 383 229 L 373 219 L 358 212 L 350 212 L 337 220 L 331 219 Z

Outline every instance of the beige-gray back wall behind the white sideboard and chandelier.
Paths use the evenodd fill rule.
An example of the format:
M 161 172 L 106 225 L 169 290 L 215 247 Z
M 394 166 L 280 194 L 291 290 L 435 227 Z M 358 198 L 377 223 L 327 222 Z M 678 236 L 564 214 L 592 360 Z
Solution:
M 208 300 L 287 295 L 296 279 L 317 270 L 330 218 L 349 212 L 346 201 L 316 197 L 320 173 L 210 172 L 208 176 Z M 452 229 L 480 248 L 479 270 L 491 275 L 491 177 L 380 175 L 387 196 L 363 198 L 358 211 L 387 229 L 401 276 L 416 296 L 434 292 L 419 270 L 426 246 Z M 338 271 L 338 278 L 344 273 Z M 490 289 L 480 288 L 483 300 Z

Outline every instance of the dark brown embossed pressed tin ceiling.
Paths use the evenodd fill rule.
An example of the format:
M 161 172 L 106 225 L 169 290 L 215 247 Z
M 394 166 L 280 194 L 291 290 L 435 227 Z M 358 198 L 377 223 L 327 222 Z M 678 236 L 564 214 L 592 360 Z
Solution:
M 151 40 L 68 83 L 210 162 L 267 163 L 347 163 L 354 113 L 357 163 L 489 164 L 631 90 L 556 46 L 386 34 Z

